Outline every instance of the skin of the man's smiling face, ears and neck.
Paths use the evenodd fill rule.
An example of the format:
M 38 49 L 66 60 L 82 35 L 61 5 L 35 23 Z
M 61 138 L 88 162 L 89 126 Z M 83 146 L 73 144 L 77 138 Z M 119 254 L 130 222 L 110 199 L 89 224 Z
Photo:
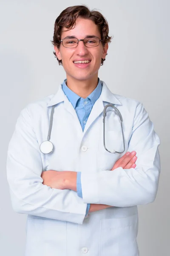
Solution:
M 88 19 L 77 18 L 74 29 L 63 29 L 61 39 L 67 36 L 75 36 L 78 39 L 84 39 L 87 35 L 96 35 L 101 39 L 97 25 Z M 67 86 L 82 98 L 87 98 L 98 84 L 98 70 L 101 65 L 101 59 L 106 57 L 108 44 L 103 47 L 99 43 L 97 47 L 85 47 L 82 41 L 76 48 L 65 48 L 60 44 L 60 48 L 54 47 L 57 58 L 62 60 L 62 65 L 66 72 Z M 91 63 L 87 68 L 78 68 L 73 61 L 90 58 Z

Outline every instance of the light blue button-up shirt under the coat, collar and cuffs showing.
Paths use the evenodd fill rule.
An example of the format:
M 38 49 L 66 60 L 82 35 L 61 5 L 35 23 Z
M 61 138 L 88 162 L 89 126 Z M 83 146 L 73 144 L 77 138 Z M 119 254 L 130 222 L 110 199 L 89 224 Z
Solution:
M 102 91 L 102 84 L 100 79 L 98 79 L 97 87 L 94 91 L 86 98 L 82 98 L 76 93 L 74 93 L 71 89 L 69 89 L 66 85 L 66 79 L 63 81 L 62 90 L 67 96 L 68 100 L 73 105 L 77 116 L 79 118 L 79 122 L 82 126 L 82 130 L 84 131 L 85 124 L 88 120 L 88 117 L 91 113 L 91 110 L 94 106 L 94 103 L 99 98 Z M 81 186 L 81 172 L 77 172 L 77 195 L 82 198 L 82 186 Z M 87 205 L 86 215 L 90 209 L 90 204 Z

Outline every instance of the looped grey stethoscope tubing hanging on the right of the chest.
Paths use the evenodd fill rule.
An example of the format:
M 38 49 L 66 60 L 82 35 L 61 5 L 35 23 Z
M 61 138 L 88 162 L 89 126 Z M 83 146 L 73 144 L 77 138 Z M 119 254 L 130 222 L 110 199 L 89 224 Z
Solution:
M 108 107 L 114 108 L 114 110 L 118 113 L 119 118 L 120 118 L 121 129 L 122 129 L 122 139 L 123 139 L 123 149 L 124 149 L 122 152 L 115 151 L 114 149 L 111 152 L 106 148 L 106 145 L 105 145 L 105 117 L 106 117 L 106 109 Z M 122 119 L 122 115 L 121 115 L 120 111 L 112 103 L 105 105 L 104 110 L 103 110 L 103 144 L 104 144 L 105 150 L 107 150 L 110 153 L 119 153 L 119 154 L 121 154 L 125 151 L 125 137 L 124 137 L 124 133 L 123 133 L 123 124 L 122 123 L 123 123 L 123 119 Z

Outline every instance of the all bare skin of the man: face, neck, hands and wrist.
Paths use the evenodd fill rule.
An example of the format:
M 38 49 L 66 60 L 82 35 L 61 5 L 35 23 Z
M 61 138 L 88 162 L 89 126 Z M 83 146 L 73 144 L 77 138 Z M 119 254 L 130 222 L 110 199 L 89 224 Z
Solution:
M 62 29 L 61 40 L 67 36 L 75 36 L 78 39 L 84 39 L 87 35 L 96 35 L 101 39 L 101 35 L 96 24 L 88 19 L 77 18 L 76 26 L 67 30 Z M 76 48 L 65 48 L 60 44 L 59 49 L 54 47 L 57 58 L 62 60 L 63 68 L 66 72 L 67 86 L 82 98 L 87 98 L 98 84 L 98 71 L 101 66 L 101 59 L 106 57 L 108 44 L 105 46 L 99 43 L 99 46 L 89 48 L 85 47 L 82 41 Z M 88 67 L 76 67 L 73 61 L 81 59 L 90 59 Z M 129 153 L 129 154 L 127 154 Z M 136 167 L 136 152 L 127 152 L 116 161 L 111 171 L 118 167 L 130 169 Z M 71 189 L 77 191 L 77 172 L 48 170 L 42 172 L 42 184 L 55 189 Z M 89 212 L 98 211 L 111 206 L 105 204 L 91 204 Z

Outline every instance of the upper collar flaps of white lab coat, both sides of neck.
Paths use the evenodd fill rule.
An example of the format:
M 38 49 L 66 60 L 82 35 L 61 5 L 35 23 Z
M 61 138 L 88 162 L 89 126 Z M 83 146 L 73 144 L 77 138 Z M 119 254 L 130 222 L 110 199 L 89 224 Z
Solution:
M 101 81 L 102 83 L 102 92 L 101 92 L 101 99 L 103 102 L 108 102 L 116 105 L 122 105 L 122 103 L 116 98 L 116 95 L 113 94 L 104 81 Z M 100 98 L 99 97 L 99 98 Z M 57 105 L 60 102 L 68 101 L 67 96 L 62 90 L 62 85 L 59 85 L 59 89 L 57 93 L 51 98 L 50 102 L 48 103 L 47 107 Z

